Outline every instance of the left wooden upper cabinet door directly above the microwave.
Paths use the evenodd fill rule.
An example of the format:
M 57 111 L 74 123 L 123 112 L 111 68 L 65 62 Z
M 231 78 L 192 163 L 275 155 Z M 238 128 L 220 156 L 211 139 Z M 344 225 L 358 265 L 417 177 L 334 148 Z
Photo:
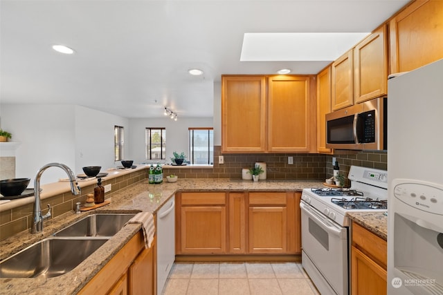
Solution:
M 332 64 L 332 111 L 354 104 L 352 49 Z

